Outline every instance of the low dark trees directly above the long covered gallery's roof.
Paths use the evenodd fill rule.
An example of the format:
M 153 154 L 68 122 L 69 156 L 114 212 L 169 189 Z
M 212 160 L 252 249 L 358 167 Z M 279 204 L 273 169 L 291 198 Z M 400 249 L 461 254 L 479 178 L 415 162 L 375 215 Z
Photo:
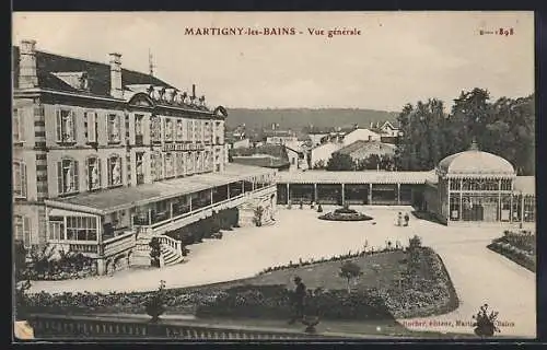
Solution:
M 327 164 L 317 162 L 314 168 L 326 168 L 327 171 L 393 171 L 395 170 L 395 158 L 387 154 L 371 154 L 365 159 L 353 160 L 349 154 L 335 152 Z

